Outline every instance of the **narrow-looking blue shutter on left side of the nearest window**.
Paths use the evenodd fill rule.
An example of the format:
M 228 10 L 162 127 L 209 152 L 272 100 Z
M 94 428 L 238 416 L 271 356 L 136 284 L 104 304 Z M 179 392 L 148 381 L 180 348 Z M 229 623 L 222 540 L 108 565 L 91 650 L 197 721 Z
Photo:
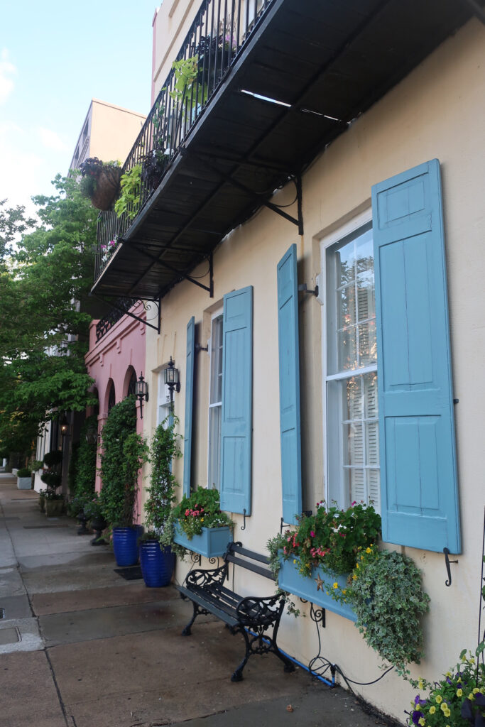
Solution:
M 296 523 L 302 511 L 296 245 L 278 262 L 278 347 L 283 518 L 285 523 Z

